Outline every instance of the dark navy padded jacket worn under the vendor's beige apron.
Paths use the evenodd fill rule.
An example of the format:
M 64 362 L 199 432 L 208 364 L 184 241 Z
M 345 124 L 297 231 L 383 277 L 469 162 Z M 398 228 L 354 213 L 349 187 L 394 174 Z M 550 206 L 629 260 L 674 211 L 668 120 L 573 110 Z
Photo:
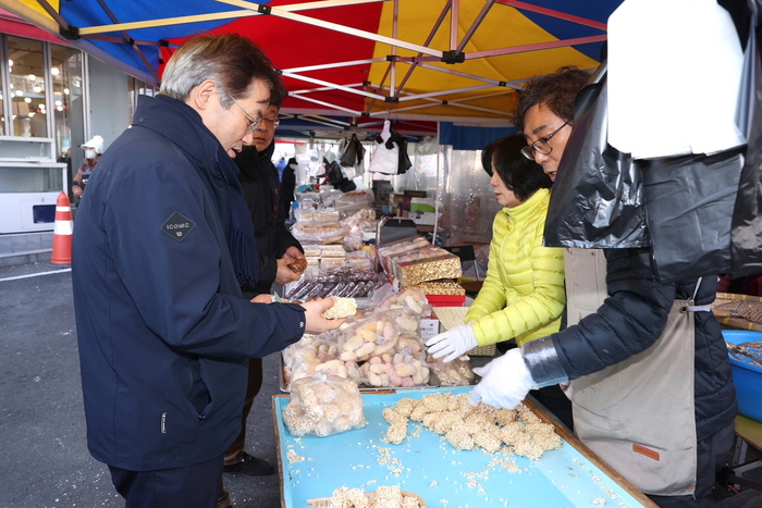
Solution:
M 570 380 L 648 349 L 661 336 L 673 301 L 691 299 L 696 288 L 696 280 L 655 281 L 648 249 L 611 249 L 605 253 L 609 298 L 577 326 L 551 336 Z M 716 290 L 717 277 L 704 277 L 696 305 L 714 301 Z M 733 422 L 737 405 L 720 323 L 712 312 L 695 312 L 693 321 L 696 431 L 702 441 Z M 669 400 L 664 400 L 664 410 L 669 410 Z

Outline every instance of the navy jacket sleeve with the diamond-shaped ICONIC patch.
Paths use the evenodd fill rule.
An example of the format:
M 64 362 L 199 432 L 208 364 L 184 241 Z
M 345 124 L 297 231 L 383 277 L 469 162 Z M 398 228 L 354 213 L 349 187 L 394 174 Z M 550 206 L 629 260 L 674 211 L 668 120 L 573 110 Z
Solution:
M 304 307 L 250 303 L 237 285 L 221 292 L 221 277 L 230 277 L 226 241 L 207 223 L 213 207 L 195 172 L 159 161 L 140 175 L 110 189 L 107 202 L 113 206 L 105 207 L 102 219 L 119 275 L 114 283 L 125 286 L 146 326 L 135 333 L 222 358 L 263 357 L 298 340 Z M 182 240 L 162 228 L 173 215 L 193 224 Z

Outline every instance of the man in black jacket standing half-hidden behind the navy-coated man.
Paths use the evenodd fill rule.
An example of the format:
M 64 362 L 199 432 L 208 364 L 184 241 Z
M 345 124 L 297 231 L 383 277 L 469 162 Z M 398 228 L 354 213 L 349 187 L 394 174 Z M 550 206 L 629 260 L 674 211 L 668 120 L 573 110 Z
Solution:
M 238 166 L 238 181 L 244 199 L 254 224 L 259 264 L 259 280 L 256 284 L 242 286 L 244 296 L 254 298 L 262 295 L 257 301 L 272 301 L 270 294 L 273 283 L 287 284 L 298 281 L 300 273 L 295 273 L 288 264 L 297 259 L 304 259 L 302 245 L 285 227 L 285 214 L 280 207 L 280 182 L 278 170 L 272 163 L 275 149 L 275 128 L 282 96 L 271 98 L 265 110 L 259 129 L 246 143 L 241 153 L 235 157 Z M 254 398 L 262 385 L 262 360 L 250 358 L 246 399 L 244 400 L 242 429 L 238 437 L 225 451 L 225 472 L 266 475 L 274 472 L 273 467 L 265 459 L 245 451 L 246 420 Z M 226 494 L 226 493 L 225 493 Z M 230 498 L 222 496 L 218 503 L 221 508 L 230 504 Z

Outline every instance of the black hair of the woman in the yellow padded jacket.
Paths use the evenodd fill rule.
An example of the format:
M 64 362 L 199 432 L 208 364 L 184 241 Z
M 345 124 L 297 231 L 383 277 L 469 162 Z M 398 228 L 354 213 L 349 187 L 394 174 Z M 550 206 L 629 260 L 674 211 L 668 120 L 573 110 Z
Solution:
M 494 145 L 492 161 L 497 175 L 518 200 L 526 201 L 539 189 L 553 185 L 540 164 L 521 154 L 521 148 L 527 146 L 523 134 L 512 134 L 490 145 Z

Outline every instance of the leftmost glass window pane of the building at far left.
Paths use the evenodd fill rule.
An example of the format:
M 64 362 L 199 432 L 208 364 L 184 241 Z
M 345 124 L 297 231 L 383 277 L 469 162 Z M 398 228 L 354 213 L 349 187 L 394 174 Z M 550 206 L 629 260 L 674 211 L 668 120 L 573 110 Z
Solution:
M 48 137 L 42 42 L 8 37 L 13 135 Z M 13 65 L 11 65 L 11 62 Z

